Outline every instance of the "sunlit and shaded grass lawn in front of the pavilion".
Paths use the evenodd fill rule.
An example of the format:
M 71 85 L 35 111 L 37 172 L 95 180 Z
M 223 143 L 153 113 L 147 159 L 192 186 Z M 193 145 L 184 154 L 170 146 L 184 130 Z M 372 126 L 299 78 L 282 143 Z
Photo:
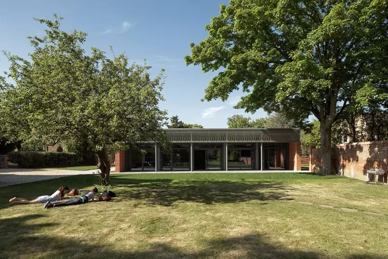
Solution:
M 112 174 L 111 202 L 8 206 L 94 182 L 0 188 L 0 258 L 388 258 L 388 187 L 338 176 Z

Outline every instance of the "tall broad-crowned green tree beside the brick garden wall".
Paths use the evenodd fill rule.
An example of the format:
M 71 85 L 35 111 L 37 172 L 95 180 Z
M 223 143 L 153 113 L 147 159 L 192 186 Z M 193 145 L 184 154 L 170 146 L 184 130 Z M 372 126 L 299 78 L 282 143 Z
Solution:
M 351 100 L 387 98 L 387 0 L 230 0 L 191 44 L 187 65 L 221 72 L 204 99 L 242 88 L 236 108 L 280 108 L 320 122 L 323 173 L 335 173 L 332 125 Z

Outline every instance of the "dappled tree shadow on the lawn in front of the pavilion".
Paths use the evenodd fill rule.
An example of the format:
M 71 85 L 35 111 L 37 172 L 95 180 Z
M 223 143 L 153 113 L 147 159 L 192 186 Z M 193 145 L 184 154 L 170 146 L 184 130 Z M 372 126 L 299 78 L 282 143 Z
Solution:
M 135 180 L 137 181 L 137 180 Z M 112 201 L 139 200 L 148 205 L 173 206 L 178 202 L 204 204 L 236 203 L 251 200 L 293 200 L 288 191 L 291 186 L 264 182 L 233 182 L 221 180 L 190 180 L 165 182 L 153 180 L 131 185 L 116 185 L 120 189 Z

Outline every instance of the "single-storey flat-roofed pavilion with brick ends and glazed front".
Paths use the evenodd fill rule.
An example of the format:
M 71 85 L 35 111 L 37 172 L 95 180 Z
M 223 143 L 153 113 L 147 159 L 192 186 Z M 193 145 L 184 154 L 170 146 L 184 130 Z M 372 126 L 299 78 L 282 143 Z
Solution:
M 165 130 L 171 151 L 152 142 L 119 151 L 116 172 L 301 170 L 299 129 Z

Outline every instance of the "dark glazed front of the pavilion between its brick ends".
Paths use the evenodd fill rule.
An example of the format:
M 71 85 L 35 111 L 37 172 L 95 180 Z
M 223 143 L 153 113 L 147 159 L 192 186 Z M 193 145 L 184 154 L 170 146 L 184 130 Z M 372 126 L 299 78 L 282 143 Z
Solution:
M 170 151 L 155 145 L 139 145 L 126 151 L 126 170 L 134 171 L 202 171 L 202 170 L 286 170 L 288 144 L 174 144 Z M 258 153 L 256 153 L 258 152 Z M 191 161 L 193 159 L 193 161 Z M 157 160 L 157 161 L 156 161 Z M 191 166 L 193 165 L 193 168 Z M 226 169 L 227 167 L 227 169 Z

